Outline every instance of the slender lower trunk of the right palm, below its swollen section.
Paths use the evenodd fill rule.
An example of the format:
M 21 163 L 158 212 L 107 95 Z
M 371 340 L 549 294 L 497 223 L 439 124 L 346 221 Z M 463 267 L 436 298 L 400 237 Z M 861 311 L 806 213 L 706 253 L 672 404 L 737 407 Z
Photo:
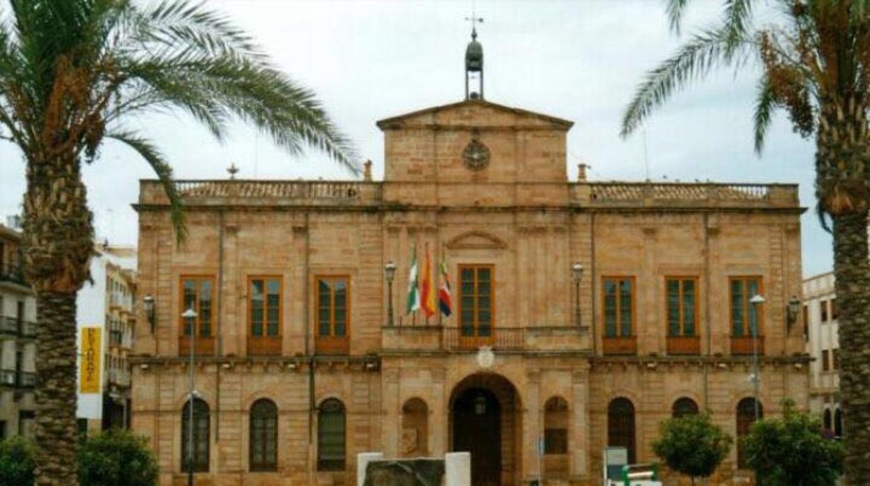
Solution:
M 867 213 L 833 216 L 840 308 L 840 407 L 847 482 L 870 484 L 870 261 Z

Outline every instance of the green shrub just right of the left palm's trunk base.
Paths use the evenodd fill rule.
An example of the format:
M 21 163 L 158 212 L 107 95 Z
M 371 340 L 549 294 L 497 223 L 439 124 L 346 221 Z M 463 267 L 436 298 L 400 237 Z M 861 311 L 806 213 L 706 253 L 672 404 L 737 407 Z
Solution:
M 153 486 L 157 460 L 144 437 L 112 429 L 88 438 L 78 448 L 81 486 Z

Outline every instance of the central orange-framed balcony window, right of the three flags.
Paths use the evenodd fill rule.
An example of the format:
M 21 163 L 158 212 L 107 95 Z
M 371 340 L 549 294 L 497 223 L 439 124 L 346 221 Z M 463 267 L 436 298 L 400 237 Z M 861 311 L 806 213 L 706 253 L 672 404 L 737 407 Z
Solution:
M 492 265 L 459 265 L 459 333 L 461 337 L 492 336 Z

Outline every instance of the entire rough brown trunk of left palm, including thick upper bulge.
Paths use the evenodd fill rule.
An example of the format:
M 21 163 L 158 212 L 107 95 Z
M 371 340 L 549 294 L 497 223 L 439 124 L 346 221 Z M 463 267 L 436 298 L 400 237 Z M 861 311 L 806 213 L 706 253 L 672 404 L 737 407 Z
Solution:
M 73 153 L 27 154 L 23 250 L 37 294 L 37 485 L 75 486 L 76 295 L 89 278 L 92 215 Z

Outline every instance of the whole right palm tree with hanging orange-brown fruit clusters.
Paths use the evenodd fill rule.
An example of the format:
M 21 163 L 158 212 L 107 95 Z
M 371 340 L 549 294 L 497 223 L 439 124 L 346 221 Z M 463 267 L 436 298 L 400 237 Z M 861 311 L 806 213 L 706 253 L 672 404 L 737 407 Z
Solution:
M 673 30 L 691 0 L 668 0 Z M 815 136 L 820 219 L 833 223 L 834 275 L 840 305 L 840 398 L 845 416 L 846 474 L 870 484 L 870 263 L 867 260 L 867 88 L 870 1 L 768 0 L 775 15 L 753 23 L 757 0 L 723 0 L 722 17 L 699 30 L 648 72 L 628 105 L 628 136 L 676 90 L 718 67 L 758 67 L 755 150 L 764 146 L 775 110 L 801 136 Z

